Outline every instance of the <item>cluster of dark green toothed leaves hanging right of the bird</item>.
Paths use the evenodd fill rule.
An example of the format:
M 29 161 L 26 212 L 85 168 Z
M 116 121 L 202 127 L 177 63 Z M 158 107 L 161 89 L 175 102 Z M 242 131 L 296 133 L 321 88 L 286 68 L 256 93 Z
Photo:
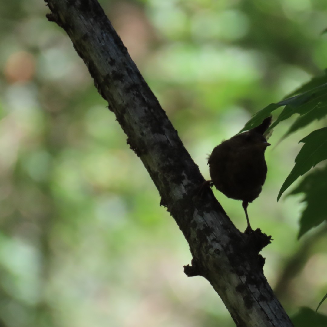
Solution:
M 271 103 L 257 112 L 242 131 L 259 125 L 264 118 L 282 106 L 284 106 L 284 109 L 267 132 L 293 114 L 299 114 L 282 139 L 306 127 L 313 121 L 324 118 L 327 115 L 327 71 L 325 70 L 324 75 L 314 77 L 292 92 L 286 99 L 278 103 Z M 304 233 L 318 226 L 326 219 L 327 204 L 324 196 L 327 194 L 327 167 L 325 166 L 319 170 L 312 170 L 312 168 L 327 159 L 327 127 L 312 131 L 302 138 L 299 143 L 303 143 L 303 146 L 295 158 L 293 169 L 279 191 L 277 201 L 289 186 L 310 170 L 310 173 L 306 175 L 301 183 L 289 193 L 289 195 L 304 193 L 302 201 L 307 204 L 300 219 L 298 235 L 300 238 Z

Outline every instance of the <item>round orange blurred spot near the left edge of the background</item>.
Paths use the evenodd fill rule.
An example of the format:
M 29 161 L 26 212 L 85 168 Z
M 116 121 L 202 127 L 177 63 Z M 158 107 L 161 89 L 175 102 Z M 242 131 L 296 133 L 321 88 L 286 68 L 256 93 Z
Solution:
M 5 65 L 5 76 L 9 83 L 32 79 L 35 72 L 34 56 L 25 51 L 13 53 Z

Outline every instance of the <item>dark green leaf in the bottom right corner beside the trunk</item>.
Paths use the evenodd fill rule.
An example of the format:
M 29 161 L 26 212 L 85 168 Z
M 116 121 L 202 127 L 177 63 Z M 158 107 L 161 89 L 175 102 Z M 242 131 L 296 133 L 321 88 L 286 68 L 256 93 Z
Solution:
M 291 317 L 294 327 L 327 327 L 327 316 L 315 313 L 307 307 L 300 308 L 300 311 Z

